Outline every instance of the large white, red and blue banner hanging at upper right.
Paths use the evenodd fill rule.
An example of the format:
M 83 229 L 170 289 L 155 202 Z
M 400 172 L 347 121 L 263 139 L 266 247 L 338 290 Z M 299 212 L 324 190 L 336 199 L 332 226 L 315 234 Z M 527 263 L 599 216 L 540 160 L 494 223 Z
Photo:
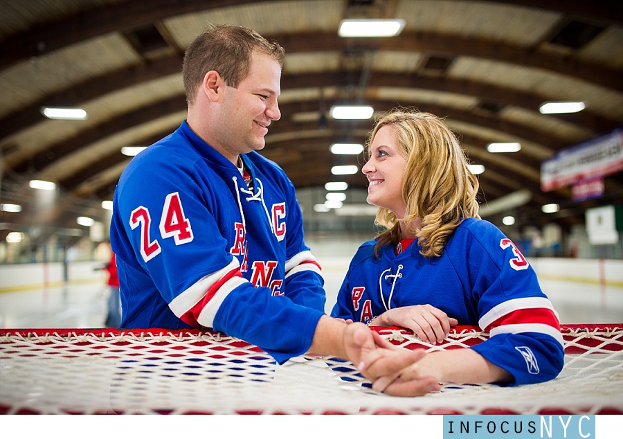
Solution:
M 557 152 L 541 163 L 541 190 L 595 181 L 623 170 L 623 127 Z M 594 189 L 594 188 L 593 188 Z

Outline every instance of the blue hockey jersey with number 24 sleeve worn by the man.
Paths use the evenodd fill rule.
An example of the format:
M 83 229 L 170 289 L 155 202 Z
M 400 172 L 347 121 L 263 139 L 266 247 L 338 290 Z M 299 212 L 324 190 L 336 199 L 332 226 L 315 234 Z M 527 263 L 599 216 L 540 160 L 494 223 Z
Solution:
M 282 362 L 311 344 L 323 278 L 294 186 L 260 154 L 242 160 L 251 190 L 184 121 L 129 163 L 110 231 L 121 325 L 213 328 Z

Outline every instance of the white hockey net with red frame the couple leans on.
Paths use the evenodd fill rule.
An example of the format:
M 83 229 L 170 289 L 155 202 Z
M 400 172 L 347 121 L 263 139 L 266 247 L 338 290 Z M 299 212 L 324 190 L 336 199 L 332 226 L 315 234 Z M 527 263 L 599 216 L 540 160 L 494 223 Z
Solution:
M 439 346 L 374 328 L 427 350 L 487 339 L 458 327 Z M 350 362 L 296 357 L 279 366 L 260 348 L 201 330 L 0 330 L 0 413 L 623 414 L 623 325 L 563 325 L 556 379 L 516 387 L 444 384 L 422 397 L 372 390 Z

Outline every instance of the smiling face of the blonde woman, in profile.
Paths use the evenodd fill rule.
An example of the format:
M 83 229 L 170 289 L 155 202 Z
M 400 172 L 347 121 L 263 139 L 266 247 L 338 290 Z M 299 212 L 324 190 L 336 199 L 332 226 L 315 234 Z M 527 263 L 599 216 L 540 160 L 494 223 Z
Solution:
M 362 168 L 370 182 L 367 201 L 391 210 L 398 218 L 403 218 L 406 212 L 406 203 L 402 199 L 406 163 L 407 159 L 398 148 L 392 127 L 381 127 L 370 145 L 370 160 Z

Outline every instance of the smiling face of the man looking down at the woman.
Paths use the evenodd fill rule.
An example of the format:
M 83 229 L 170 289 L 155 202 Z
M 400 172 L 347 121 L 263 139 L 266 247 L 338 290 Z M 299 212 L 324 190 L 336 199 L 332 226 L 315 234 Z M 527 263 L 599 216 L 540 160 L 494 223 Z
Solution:
M 264 148 L 264 136 L 272 120 L 279 120 L 277 105 L 280 89 L 281 67 L 269 55 L 253 53 L 249 75 L 238 87 L 225 88 L 224 101 L 219 110 L 217 138 L 213 145 L 233 161 L 239 154 Z

